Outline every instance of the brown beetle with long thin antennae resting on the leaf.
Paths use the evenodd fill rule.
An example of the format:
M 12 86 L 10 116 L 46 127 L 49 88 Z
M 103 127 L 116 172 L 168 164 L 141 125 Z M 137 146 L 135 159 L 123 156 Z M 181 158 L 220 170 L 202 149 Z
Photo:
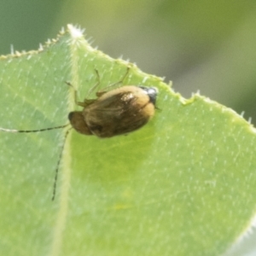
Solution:
M 118 83 L 123 83 L 129 73 L 127 68 L 125 76 Z M 96 70 L 98 82 L 93 87 L 100 84 L 99 73 Z M 66 82 L 73 88 L 73 85 Z M 111 84 L 111 87 L 115 84 Z M 83 107 L 82 111 L 73 111 L 68 113 L 69 124 L 60 125 L 39 130 L 10 130 L 0 127 L 0 131 L 7 132 L 38 132 L 65 128 L 71 125 L 65 133 L 64 141 L 61 147 L 61 154 L 55 169 L 55 181 L 53 186 L 52 201 L 55 199 L 55 190 L 58 177 L 58 170 L 61 163 L 62 152 L 66 143 L 67 135 L 74 129 L 83 135 L 95 135 L 96 137 L 114 137 L 122 134 L 128 134 L 131 131 L 143 127 L 148 120 L 154 116 L 155 102 L 158 90 L 154 87 L 141 85 L 125 85 L 109 91 L 97 91 L 96 99 L 84 99 L 84 102 L 78 101 L 77 90 L 74 90 L 75 103 Z

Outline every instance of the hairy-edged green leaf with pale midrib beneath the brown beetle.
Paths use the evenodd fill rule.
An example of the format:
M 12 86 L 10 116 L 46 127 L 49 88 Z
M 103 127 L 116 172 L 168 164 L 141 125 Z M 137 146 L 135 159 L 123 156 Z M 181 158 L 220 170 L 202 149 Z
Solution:
M 158 87 L 154 118 L 127 136 L 100 139 L 67 129 L 0 132 L 3 255 L 220 255 L 255 214 L 255 129 L 196 94 L 91 48 L 79 29 L 38 51 L 2 56 L 0 126 L 36 130 L 68 123 L 96 84 L 131 71 L 125 84 Z

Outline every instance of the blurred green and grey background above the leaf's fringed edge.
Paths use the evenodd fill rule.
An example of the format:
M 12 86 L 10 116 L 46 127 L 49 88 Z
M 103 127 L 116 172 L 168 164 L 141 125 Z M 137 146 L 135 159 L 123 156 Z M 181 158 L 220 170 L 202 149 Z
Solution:
M 256 124 L 256 2 L 1 1 L 0 54 L 38 49 L 67 23 L 86 28 L 106 54 L 197 90 Z

